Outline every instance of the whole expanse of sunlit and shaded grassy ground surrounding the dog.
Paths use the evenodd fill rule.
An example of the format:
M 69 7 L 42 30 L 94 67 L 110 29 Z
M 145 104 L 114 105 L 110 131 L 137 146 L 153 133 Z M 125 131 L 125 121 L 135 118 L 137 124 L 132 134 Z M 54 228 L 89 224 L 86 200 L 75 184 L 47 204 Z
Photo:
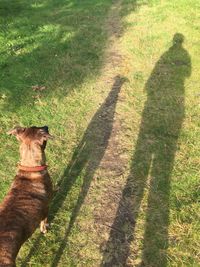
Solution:
M 0 199 L 18 160 L 6 131 L 17 124 L 56 136 L 47 158 L 60 186 L 51 230 L 26 242 L 19 266 L 200 266 L 199 1 L 122 1 L 123 86 L 99 83 L 112 6 L 0 0 Z M 114 160 L 101 163 L 118 147 L 125 169 L 115 176 Z

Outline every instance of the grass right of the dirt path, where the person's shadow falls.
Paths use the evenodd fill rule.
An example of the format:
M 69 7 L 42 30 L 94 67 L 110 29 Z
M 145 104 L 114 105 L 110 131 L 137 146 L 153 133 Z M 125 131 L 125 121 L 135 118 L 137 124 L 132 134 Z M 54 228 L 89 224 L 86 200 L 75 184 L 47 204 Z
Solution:
M 130 83 L 121 111 L 135 140 L 121 204 L 128 208 L 133 203 L 136 226 L 126 225 L 119 208 L 114 226 L 130 227 L 127 234 L 134 238 L 127 249 L 111 231 L 104 259 L 112 263 L 114 257 L 123 266 L 128 251 L 130 266 L 199 266 L 200 5 L 184 0 L 137 3 L 123 21 Z M 173 45 L 177 33 L 184 36 L 179 47 Z M 129 188 L 134 194 L 129 195 Z

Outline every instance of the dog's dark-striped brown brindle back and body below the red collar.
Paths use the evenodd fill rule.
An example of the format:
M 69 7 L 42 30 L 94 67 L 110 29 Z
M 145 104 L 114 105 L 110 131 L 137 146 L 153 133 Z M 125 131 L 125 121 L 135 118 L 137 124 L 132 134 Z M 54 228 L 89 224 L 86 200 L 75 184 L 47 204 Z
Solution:
M 21 245 L 48 213 L 52 194 L 48 173 L 36 178 L 20 174 L 0 206 L 0 266 L 15 266 Z

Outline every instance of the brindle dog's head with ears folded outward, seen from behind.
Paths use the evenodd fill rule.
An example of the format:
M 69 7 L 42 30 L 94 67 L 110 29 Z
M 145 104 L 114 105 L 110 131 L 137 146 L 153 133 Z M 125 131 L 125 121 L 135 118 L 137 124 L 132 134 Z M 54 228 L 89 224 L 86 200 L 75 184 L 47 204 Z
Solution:
M 17 126 L 10 130 L 8 134 L 16 136 L 23 144 L 40 146 L 43 150 L 46 147 L 47 140 L 53 138 L 52 135 L 49 134 L 48 126 L 32 126 L 29 128 Z

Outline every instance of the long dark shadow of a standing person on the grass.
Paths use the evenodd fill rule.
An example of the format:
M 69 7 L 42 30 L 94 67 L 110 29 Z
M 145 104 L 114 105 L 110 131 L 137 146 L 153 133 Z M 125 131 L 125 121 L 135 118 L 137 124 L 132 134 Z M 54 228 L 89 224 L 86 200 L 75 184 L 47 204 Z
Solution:
M 133 266 L 127 260 L 145 190 L 148 197 L 140 266 L 167 265 L 170 180 L 185 117 L 184 82 L 191 75 L 191 60 L 183 41 L 182 34 L 174 35 L 173 45 L 160 57 L 146 82 L 147 100 L 131 170 L 101 266 Z

